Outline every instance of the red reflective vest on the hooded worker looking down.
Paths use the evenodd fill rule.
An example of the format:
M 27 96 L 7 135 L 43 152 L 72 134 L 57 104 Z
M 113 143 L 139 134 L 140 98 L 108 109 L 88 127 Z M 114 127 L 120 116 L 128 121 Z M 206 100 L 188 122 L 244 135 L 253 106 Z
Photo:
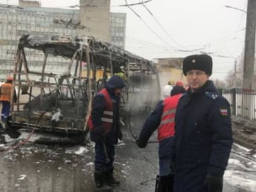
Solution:
M 113 125 L 113 102 L 106 88 L 103 88 L 98 94 L 103 94 L 106 101 L 101 121 L 103 129 L 106 133 L 108 133 Z M 88 119 L 88 127 L 90 130 L 93 130 L 93 121 L 91 120 L 91 115 Z

